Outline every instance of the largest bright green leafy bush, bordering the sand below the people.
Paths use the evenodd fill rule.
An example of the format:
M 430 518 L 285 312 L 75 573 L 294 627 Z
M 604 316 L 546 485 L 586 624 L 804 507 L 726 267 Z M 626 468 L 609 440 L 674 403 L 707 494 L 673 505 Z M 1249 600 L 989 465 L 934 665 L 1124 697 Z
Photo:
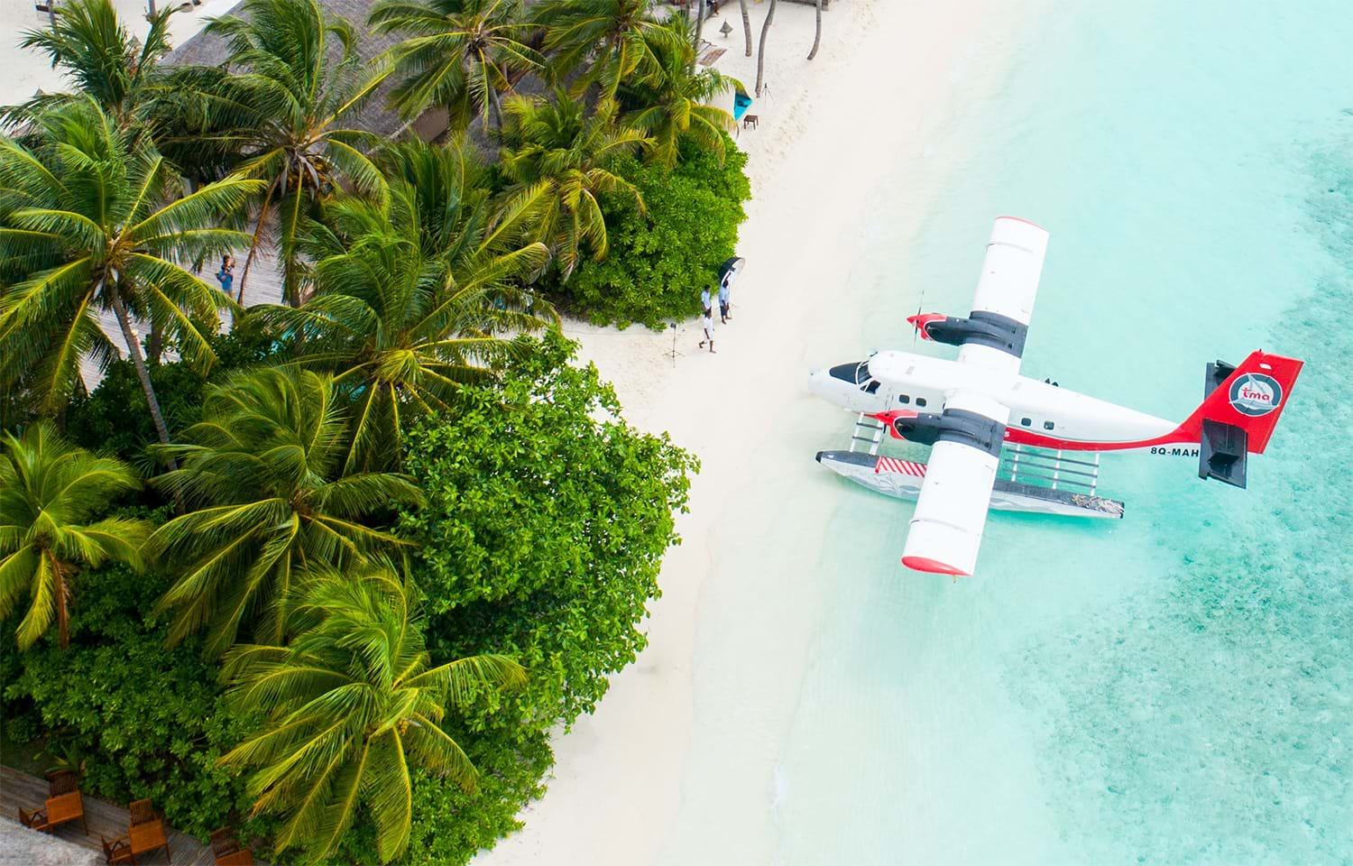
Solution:
M 406 440 L 428 503 L 400 528 L 422 544 L 413 576 L 434 659 L 506 652 L 528 668 L 525 689 L 455 714 L 480 783 L 418 782 L 407 862 L 465 862 L 518 827 L 553 762 L 551 728 L 590 712 L 647 643 L 637 624 L 698 465 L 618 419 L 614 391 L 568 364 L 557 333 L 533 348 L 501 387 L 467 390 L 455 418 Z

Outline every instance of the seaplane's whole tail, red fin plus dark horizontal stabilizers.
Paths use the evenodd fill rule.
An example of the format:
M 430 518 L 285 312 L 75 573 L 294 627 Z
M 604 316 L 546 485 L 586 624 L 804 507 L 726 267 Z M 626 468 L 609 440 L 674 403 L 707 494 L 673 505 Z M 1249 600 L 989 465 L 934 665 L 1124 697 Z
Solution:
M 1245 456 L 1268 448 L 1300 372 L 1302 361 L 1260 350 L 1239 367 L 1207 365 L 1203 403 L 1180 425 L 1200 442 L 1199 478 L 1245 487 Z

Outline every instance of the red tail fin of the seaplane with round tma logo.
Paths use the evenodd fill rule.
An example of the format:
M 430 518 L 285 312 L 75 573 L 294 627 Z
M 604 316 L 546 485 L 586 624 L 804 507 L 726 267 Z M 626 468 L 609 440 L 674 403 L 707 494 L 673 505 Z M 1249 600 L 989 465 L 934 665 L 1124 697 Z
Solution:
M 1277 418 L 1283 414 L 1300 372 L 1302 361 L 1296 359 L 1250 352 L 1239 367 L 1212 388 L 1180 429 L 1191 436 L 1201 436 L 1204 418 L 1230 424 L 1245 430 L 1249 452 L 1261 455 L 1268 448 L 1269 437 L 1273 436 L 1273 428 L 1277 426 Z M 1208 373 L 1212 373 L 1211 365 Z M 1212 382 L 1215 380 L 1210 378 L 1208 387 Z

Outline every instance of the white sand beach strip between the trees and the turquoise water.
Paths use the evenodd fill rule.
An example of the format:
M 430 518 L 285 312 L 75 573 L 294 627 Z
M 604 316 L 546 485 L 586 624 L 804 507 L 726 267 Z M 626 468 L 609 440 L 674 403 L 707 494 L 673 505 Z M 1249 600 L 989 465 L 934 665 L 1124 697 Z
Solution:
M 959 154 L 928 142 L 999 87 L 1020 18 L 997 7 L 836 0 L 809 62 L 813 8 L 778 4 L 770 92 L 750 110 L 760 124 L 739 135 L 751 157 L 754 200 L 737 249 L 748 265 L 733 287 L 733 321 L 717 329 L 717 355 L 698 350 L 694 319 L 678 329 L 675 363 L 671 332 L 566 326 L 614 383 L 626 417 L 668 430 L 704 468 L 678 524 L 683 544 L 663 564 L 649 647 L 613 678 L 595 714 L 557 739 L 555 778 L 522 816 L 525 829 L 476 862 L 773 862 L 779 735 L 824 601 L 813 566 L 839 493 L 805 479 L 820 472 L 813 453 L 844 447 L 848 429 L 815 405 L 805 376 L 874 348 L 862 345 L 861 329 L 878 313 L 852 302 L 848 286 L 896 286 L 898 309 L 915 303 L 905 273 L 856 261 L 856 249 L 879 231 L 901 249 L 957 165 Z M 754 41 L 767 8 L 752 4 Z M 733 26 L 727 41 L 723 20 Z M 756 66 L 743 55 L 737 4 L 724 3 L 705 32 L 728 46 L 716 66 L 751 92 Z M 889 202 L 890 214 L 908 218 L 882 225 L 871 219 L 873 196 L 894 172 L 913 196 Z M 900 340 L 904 329 L 898 317 Z M 752 622 L 769 640 L 729 639 Z M 697 685 L 697 668 L 720 682 Z M 701 686 L 729 702 L 702 706 Z

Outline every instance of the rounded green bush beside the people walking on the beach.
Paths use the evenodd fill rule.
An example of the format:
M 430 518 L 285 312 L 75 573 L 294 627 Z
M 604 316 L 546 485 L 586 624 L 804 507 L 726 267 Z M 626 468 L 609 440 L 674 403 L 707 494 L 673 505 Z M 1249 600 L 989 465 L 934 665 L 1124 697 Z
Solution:
M 751 198 L 747 154 L 724 138 L 723 165 L 690 142 L 674 169 L 617 161 L 612 170 L 639 188 L 647 215 L 632 198 L 602 196 L 609 253 L 584 260 L 567 283 L 548 291 L 598 325 L 660 327 L 664 319 L 700 313 L 700 290 L 713 284 L 718 265 L 733 254 L 737 226 L 747 218 L 743 202 Z

